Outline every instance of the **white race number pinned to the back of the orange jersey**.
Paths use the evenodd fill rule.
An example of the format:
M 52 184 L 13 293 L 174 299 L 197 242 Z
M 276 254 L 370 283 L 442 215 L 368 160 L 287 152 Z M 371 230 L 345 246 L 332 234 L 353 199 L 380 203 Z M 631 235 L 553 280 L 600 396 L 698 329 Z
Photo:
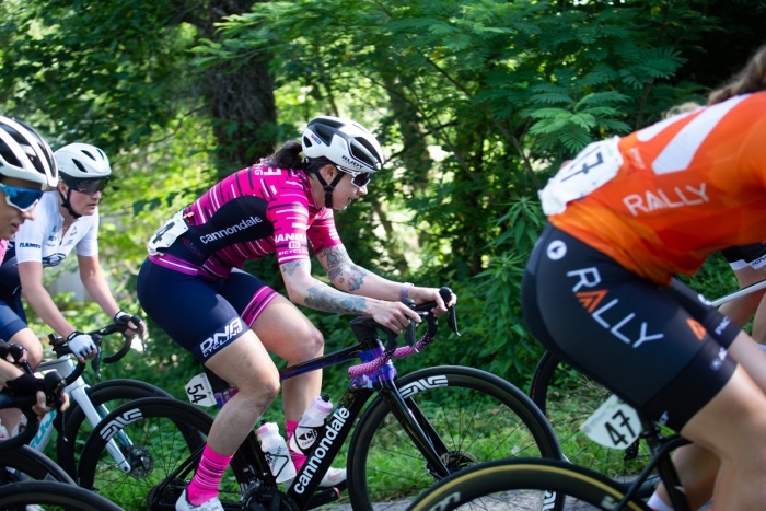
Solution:
M 547 216 L 562 213 L 567 204 L 585 197 L 617 175 L 623 166 L 619 137 L 589 143 L 548 181 L 539 193 L 543 212 Z

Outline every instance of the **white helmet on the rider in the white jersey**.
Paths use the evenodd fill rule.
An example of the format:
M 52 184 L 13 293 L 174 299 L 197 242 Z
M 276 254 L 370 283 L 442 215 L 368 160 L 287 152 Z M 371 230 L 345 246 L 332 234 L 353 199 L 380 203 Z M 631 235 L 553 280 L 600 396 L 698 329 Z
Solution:
M 59 176 L 68 188 L 66 196 L 59 190 L 61 206 L 67 208 L 72 217 L 80 218 L 69 201 L 72 191 L 88 195 L 103 191 L 112 175 L 109 159 L 95 146 L 80 142 L 62 147 L 54 156 L 58 163 Z

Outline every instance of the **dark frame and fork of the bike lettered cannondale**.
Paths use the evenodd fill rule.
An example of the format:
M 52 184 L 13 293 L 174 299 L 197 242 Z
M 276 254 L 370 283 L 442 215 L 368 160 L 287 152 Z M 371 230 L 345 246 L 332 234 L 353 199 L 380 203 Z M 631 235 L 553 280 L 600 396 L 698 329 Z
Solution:
M 351 325 L 359 342 L 349 348 L 338 350 L 334 353 L 325 355 L 297 365 L 282 369 L 280 380 L 294 378 L 310 371 L 316 371 L 328 365 L 347 362 L 356 358 L 362 362 L 369 362 L 379 358 L 385 348 L 378 332 L 374 328 L 362 325 L 364 317 L 353 320 Z M 234 395 L 235 390 L 231 390 L 229 384 L 214 373 L 208 371 L 208 379 L 216 393 L 216 400 L 219 406 L 225 404 L 228 398 Z M 407 435 L 417 445 L 428 461 L 431 471 L 437 477 L 446 477 L 449 469 L 444 465 L 441 454 L 448 449 L 445 443 L 438 437 L 437 432 L 429 427 L 428 421 L 417 407 L 411 394 L 405 398 L 399 393 L 395 384 L 396 368 L 392 361 L 386 362 L 380 369 L 356 376 L 351 380 L 348 388 L 340 398 L 338 406 L 326 419 L 326 427 L 322 434 L 317 437 L 309 453 L 306 463 L 295 475 L 287 495 L 293 499 L 300 509 L 307 509 L 321 503 L 329 502 L 338 498 L 334 488 L 327 488 L 320 493 L 315 493 L 322 478 L 330 468 L 335 456 L 341 445 L 346 442 L 349 433 L 353 429 L 353 423 L 359 417 L 364 404 L 370 396 L 378 392 L 383 402 L 388 406 L 393 416 L 402 425 Z M 224 394 L 227 394 L 224 396 Z M 423 430 L 425 428 L 425 430 Z M 202 448 L 197 450 L 185 463 L 170 474 L 164 481 L 156 487 L 154 495 L 159 498 L 167 487 L 169 483 L 186 476 L 197 466 L 201 456 Z M 260 449 L 254 432 L 247 435 L 243 444 L 237 450 L 249 463 L 248 469 L 255 479 L 259 479 L 268 486 L 276 487 L 277 483 L 269 469 L 266 456 Z M 321 501 L 318 501 L 322 499 Z M 326 499 L 326 500 L 325 500 Z M 155 502 L 154 502 L 155 503 Z

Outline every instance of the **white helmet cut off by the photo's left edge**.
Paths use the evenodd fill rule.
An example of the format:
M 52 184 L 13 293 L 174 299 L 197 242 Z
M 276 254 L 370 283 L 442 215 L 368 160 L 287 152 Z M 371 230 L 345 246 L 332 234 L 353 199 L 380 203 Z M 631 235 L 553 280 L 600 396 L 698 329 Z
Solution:
M 0 174 L 56 186 L 58 171 L 48 142 L 21 120 L 0 116 Z

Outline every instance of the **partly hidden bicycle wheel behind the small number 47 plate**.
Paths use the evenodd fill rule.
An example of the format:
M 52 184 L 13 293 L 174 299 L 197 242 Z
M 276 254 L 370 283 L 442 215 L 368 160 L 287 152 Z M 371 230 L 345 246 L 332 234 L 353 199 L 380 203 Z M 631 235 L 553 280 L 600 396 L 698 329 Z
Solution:
M 537 363 L 530 385 L 530 397 L 554 428 L 565 457 L 574 465 L 625 483 L 651 460 L 646 442 L 637 440 L 627 450 L 619 451 L 600 445 L 580 432 L 580 426 L 611 395 L 603 385 L 559 361 L 549 351 Z M 649 479 L 640 496 L 651 495 L 658 484 L 658 477 Z

